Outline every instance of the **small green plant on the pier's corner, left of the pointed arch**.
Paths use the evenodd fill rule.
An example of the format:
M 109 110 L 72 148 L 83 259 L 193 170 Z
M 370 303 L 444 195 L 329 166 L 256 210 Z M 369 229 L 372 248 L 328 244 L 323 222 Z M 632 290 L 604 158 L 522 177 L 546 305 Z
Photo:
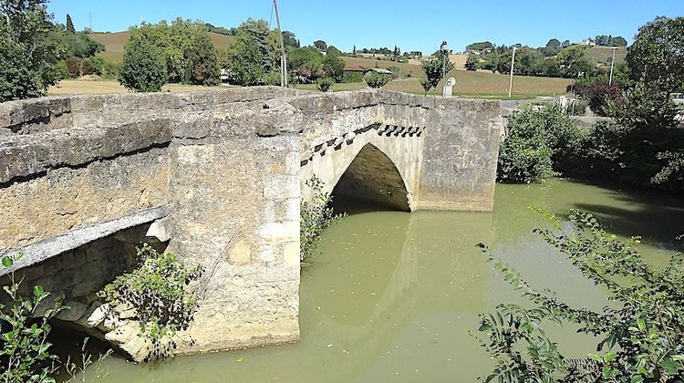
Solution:
M 304 262 L 310 255 L 319 251 L 321 234 L 331 224 L 343 218 L 345 214 L 335 214 L 330 206 L 332 197 L 323 192 L 323 181 L 316 176 L 306 181 L 306 186 L 311 189 L 311 199 L 302 201 L 300 211 L 300 260 Z

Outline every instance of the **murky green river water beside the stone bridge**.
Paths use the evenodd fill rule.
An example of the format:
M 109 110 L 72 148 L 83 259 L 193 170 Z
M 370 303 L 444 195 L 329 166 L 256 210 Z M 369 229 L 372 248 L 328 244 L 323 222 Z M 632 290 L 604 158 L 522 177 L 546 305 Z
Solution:
M 475 248 L 490 245 L 537 287 L 598 309 L 606 294 L 546 245 L 537 205 L 594 212 L 618 235 L 643 236 L 655 263 L 682 250 L 684 201 L 575 181 L 497 185 L 494 212 L 364 212 L 331 227 L 302 270 L 301 340 L 292 345 L 133 365 L 109 357 L 105 382 L 472 382 L 491 361 L 468 330 L 478 314 L 520 298 Z M 571 357 L 596 342 L 550 328 Z M 486 376 L 486 375 L 485 375 Z

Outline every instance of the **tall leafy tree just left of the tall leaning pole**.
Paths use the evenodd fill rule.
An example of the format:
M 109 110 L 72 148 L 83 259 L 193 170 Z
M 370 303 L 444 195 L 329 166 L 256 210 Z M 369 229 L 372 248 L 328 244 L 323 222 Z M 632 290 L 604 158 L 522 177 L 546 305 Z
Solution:
M 264 75 L 275 67 L 268 34 L 264 20 L 249 19 L 238 26 L 237 38 L 229 53 L 229 69 L 234 82 L 245 87 L 260 84 Z

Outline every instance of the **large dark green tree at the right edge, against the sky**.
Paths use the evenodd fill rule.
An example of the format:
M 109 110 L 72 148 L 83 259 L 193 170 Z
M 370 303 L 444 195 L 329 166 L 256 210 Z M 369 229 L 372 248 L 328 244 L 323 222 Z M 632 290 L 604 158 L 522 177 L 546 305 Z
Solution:
M 641 26 L 627 52 L 634 80 L 666 92 L 684 83 L 684 17 L 657 17 Z

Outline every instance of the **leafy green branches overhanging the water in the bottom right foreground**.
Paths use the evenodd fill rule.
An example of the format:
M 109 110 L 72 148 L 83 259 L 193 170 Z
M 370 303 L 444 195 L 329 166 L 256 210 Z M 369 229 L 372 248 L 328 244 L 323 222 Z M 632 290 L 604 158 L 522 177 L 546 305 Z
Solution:
M 560 220 L 544 212 L 554 229 L 535 230 L 565 254 L 619 308 L 575 308 L 553 292 L 535 289 L 508 264 L 479 246 L 494 268 L 534 306 L 498 305 L 482 315 L 481 339 L 495 361 L 488 382 L 680 382 L 684 379 L 684 256 L 664 267 L 645 262 L 639 239 L 627 242 L 606 233 L 591 214 L 571 212 L 571 233 L 559 233 Z M 574 323 L 579 333 L 597 336 L 582 359 L 564 357 L 544 333 L 549 322 Z

